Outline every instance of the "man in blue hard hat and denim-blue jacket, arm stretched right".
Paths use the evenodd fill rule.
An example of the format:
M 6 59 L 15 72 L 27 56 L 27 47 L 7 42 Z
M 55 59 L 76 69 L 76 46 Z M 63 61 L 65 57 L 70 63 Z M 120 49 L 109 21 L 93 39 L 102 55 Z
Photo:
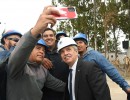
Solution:
M 120 75 L 118 70 L 100 52 L 88 46 L 88 39 L 85 34 L 78 33 L 73 39 L 77 43 L 78 53 L 83 60 L 98 64 L 98 67 L 106 73 L 110 79 L 117 83 L 126 93 L 130 93 L 130 85 Z

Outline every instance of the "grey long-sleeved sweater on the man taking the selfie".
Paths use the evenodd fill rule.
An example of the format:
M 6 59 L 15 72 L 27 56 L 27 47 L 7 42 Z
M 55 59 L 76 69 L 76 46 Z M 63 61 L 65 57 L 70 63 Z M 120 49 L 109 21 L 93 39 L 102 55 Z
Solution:
M 42 65 L 28 62 L 37 41 L 28 32 L 11 53 L 7 69 L 7 100 L 41 100 L 44 86 L 64 91 L 65 83 L 51 76 Z

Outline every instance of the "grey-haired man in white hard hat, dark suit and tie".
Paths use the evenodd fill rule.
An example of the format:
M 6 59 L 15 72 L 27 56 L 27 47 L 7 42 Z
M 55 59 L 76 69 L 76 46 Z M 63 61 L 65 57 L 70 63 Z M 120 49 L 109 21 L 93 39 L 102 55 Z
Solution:
M 71 70 L 68 77 L 70 98 L 65 100 L 111 100 L 104 73 L 95 63 L 78 58 L 77 44 L 72 38 L 61 38 L 58 52 Z

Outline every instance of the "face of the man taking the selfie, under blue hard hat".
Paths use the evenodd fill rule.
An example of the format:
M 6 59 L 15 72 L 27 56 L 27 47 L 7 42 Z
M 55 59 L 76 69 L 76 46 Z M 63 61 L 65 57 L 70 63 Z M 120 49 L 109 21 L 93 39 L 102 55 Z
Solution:
M 44 56 L 45 56 L 45 47 L 42 45 L 36 45 L 33 51 L 31 52 L 29 61 L 42 63 Z

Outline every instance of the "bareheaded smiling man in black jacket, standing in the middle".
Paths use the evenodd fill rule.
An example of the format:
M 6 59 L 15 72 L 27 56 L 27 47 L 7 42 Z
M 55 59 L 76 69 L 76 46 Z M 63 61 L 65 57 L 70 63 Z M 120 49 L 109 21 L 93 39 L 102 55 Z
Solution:
M 59 53 L 57 52 L 55 31 L 51 28 L 47 28 L 44 30 L 42 36 L 49 47 L 46 51 L 46 58 L 43 60 L 43 65 L 46 67 L 46 64 L 51 62 L 50 65 L 52 66 L 50 66 L 50 68 L 46 67 L 51 75 L 62 80 L 63 82 L 67 82 L 69 69 L 68 65 L 62 61 Z M 50 61 L 47 63 L 48 60 Z M 49 88 L 43 88 L 43 92 L 44 94 L 42 100 L 62 100 L 64 96 L 63 92 L 57 92 Z

